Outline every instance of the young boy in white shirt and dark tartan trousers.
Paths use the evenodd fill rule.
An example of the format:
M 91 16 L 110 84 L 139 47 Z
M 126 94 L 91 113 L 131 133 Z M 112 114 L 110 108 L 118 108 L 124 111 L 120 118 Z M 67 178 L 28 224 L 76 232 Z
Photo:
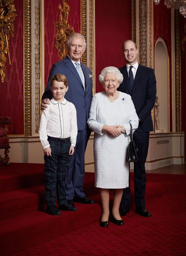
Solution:
M 78 134 L 76 109 L 64 96 L 68 80 L 56 74 L 50 79 L 53 98 L 40 119 L 40 141 L 44 151 L 46 212 L 60 215 L 59 210 L 77 211 L 67 203 L 65 178 L 74 153 Z M 56 207 L 56 193 L 59 209 Z

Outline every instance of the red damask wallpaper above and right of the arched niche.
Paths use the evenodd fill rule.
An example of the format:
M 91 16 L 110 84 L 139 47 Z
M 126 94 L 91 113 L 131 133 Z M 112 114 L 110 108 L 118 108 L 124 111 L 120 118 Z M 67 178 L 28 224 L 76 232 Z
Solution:
M 169 93 L 170 93 L 170 132 L 172 132 L 172 43 L 171 43 L 171 9 L 167 9 L 164 6 L 164 1 L 160 1 L 158 5 L 153 5 L 153 16 L 154 16 L 154 46 L 159 37 L 163 38 L 169 54 Z

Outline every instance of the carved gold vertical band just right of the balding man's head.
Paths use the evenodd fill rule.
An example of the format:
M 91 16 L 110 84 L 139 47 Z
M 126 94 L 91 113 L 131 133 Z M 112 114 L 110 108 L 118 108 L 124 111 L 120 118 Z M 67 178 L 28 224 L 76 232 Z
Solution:
M 140 64 L 147 66 L 146 0 L 140 0 Z

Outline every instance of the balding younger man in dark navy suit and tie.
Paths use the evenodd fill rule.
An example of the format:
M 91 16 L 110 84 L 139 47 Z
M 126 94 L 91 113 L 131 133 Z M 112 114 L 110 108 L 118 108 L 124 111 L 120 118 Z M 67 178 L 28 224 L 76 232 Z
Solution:
M 136 213 L 144 217 L 151 217 L 151 213 L 146 209 L 145 201 L 145 162 L 149 148 L 149 132 L 154 130 L 151 111 L 155 105 L 156 97 L 155 73 L 153 69 L 138 64 L 138 49 L 136 43 L 133 41 L 124 41 L 123 53 L 127 64 L 119 68 L 124 80 L 118 88 L 118 91 L 130 94 L 139 118 L 139 126 L 133 134 L 133 139 L 138 148 L 138 161 L 134 163 L 134 201 Z M 129 212 L 130 198 L 129 186 L 124 189 L 121 199 L 121 216 Z

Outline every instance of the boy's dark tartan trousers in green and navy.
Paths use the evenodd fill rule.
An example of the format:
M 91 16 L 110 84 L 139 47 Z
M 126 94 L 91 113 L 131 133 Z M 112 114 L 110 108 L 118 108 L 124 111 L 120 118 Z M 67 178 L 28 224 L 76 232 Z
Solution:
M 45 174 L 45 200 L 46 205 L 56 205 L 56 193 L 58 205 L 66 203 L 65 180 L 68 172 L 71 155 L 69 149 L 70 139 L 62 141 L 49 137 L 50 156 L 44 155 L 44 174 Z

